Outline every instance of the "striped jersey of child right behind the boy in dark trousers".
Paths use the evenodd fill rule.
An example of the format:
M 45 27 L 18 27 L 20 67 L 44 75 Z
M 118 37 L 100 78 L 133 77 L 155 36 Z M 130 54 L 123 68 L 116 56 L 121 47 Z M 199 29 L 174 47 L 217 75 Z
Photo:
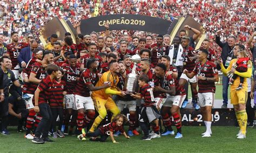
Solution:
M 52 86 L 52 98 L 49 100 L 51 108 L 63 108 L 63 92 L 65 91 L 66 82 L 61 80 L 60 82 L 53 80 Z

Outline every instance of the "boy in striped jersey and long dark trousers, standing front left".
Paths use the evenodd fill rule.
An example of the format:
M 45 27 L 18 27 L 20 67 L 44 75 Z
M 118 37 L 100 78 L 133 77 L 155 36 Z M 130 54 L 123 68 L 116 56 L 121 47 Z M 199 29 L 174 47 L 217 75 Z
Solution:
M 51 126 L 52 114 L 48 101 L 52 98 L 53 79 L 57 78 L 58 66 L 50 64 L 47 66 L 48 76 L 45 77 L 38 85 L 35 91 L 35 112 L 40 112 L 41 122 L 35 132 L 33 143 L 53 142 L 48 138 L 48 131 Z M 42 138 L 41 138 L 42 134 Z

